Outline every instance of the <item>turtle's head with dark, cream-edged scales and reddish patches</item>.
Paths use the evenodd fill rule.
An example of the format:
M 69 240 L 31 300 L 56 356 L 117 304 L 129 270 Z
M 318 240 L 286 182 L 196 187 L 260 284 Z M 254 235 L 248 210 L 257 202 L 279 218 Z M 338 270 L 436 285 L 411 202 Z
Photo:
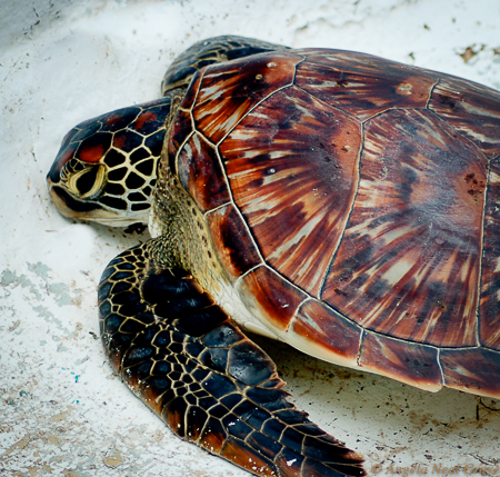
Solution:
M 58 210 L 117 227 L 148 222 L 169 115 L 162 98 L 71 129 L 47 176 Z

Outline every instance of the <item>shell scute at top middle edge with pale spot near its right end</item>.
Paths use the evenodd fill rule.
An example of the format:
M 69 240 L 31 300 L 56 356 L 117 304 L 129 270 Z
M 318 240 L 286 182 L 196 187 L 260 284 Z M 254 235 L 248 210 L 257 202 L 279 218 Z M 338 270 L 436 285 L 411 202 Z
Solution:
M 439 76 L 394 61 L 341 50 L 298 50 L 307 61 L 296 85 L 358 119 L 389 108 L 424 108 Z

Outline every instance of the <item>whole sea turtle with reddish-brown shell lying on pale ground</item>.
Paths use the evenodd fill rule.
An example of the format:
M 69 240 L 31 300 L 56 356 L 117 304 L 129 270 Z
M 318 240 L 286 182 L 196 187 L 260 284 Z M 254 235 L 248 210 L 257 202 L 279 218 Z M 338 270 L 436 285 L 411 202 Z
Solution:
M 500 398 L 500 92 L 238 37 L 188 49 L 162 92 L 72 129 L 48 183 L 67 217 L 149 217 L 102 275 L 100 326 L 177 435 L 256 475 L 364 474 L 234 321 Z

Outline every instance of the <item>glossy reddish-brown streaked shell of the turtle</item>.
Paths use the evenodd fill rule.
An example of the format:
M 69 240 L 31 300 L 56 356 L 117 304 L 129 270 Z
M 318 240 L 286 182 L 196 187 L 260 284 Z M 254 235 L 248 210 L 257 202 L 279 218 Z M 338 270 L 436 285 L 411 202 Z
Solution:
M 361 53 L 257 54 L 196 74 L 169 162 L 279 337 L 500 397 L 500 92 Z

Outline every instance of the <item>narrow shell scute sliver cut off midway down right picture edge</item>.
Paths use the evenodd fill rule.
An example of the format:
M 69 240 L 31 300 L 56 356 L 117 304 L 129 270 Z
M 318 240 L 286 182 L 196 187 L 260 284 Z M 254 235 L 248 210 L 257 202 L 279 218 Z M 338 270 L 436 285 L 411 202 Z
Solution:
M 479 339 L 500 350 L 500 157 L 490 165 L 482 250 Z

